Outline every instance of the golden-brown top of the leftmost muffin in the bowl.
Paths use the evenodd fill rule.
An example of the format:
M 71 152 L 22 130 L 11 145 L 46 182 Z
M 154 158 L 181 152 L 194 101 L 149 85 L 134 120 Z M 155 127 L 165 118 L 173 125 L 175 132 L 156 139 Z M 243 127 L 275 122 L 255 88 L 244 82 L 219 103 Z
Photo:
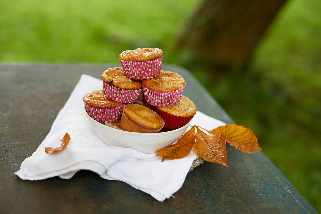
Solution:
M 103 90 L 92 91 L 82 98 L 83 102 L 87 105 L 99 109 L 110 109 L 121 106 L 123 103 L 109 100 Z

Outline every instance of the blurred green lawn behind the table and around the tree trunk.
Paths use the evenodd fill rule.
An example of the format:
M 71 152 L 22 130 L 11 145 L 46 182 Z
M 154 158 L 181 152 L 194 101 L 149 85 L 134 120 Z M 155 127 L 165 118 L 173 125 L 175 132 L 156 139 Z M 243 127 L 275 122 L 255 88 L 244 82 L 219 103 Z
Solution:
M 123 50 L 159 47 L 164 63 L 190 69 L 253 129 L 263 152 L 321 211 L 321 1 L 288 0 L 247 71 L 219 75 L 173 48 L 199 2 L 0 0 L 0 61 L 118 62 Z

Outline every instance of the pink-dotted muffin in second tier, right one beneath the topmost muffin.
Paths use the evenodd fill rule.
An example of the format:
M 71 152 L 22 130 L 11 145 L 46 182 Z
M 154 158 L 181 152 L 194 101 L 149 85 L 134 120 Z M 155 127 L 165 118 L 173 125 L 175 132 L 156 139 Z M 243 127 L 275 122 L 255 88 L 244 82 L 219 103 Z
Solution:
M 176 105 L 183 95 L 185 80 L 171 71 L 161 71 L 160 75 L 142 80 L 143 94 L 147 103 L 157 107 Z

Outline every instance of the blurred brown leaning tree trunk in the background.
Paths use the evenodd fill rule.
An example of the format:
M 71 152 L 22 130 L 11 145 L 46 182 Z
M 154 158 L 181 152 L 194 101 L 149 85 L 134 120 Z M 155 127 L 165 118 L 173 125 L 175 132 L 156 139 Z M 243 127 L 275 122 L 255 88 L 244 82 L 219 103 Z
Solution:
M 204 0 L 178 37 L 218 70 L 242 71 L 285 0 Z

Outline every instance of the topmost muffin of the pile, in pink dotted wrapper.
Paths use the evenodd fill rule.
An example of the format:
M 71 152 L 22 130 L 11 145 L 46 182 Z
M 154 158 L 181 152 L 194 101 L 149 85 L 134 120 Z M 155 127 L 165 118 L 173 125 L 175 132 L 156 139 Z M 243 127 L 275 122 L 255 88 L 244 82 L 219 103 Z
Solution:
M 159 48 L 125 50 L 119 61 L 129 79 L 150 79 L 160 74 L 163 51 Z

